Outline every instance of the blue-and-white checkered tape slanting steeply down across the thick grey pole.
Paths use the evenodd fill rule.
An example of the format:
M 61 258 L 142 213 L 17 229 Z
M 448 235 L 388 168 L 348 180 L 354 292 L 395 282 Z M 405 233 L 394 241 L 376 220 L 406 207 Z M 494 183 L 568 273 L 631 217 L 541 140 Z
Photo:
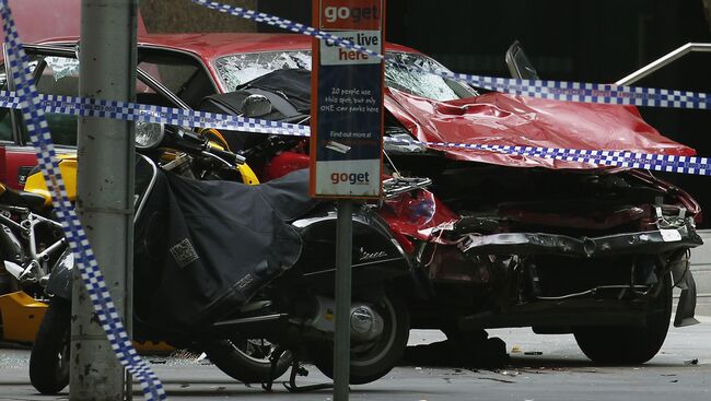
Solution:
M 43 170 L 47 188 L 53 193 L 55 212 L 62 222 L 65 236 L 74 255 L 82 281 L 98 317 L 106 337 L 120 361 L 141 384 L 148 400 L 164 400 L 165 391 L 161 381 L 148 364 L 137 354 L 126 333 L 120 316 L 112 300 L 103 274 L 96 263 L 86 234 L 77 217 L 77 213 L 67 197 L 61 173 L 58 167 L 55 146 L 45 118 L 40 98 L 33 83 L 33 74 L 27 62 L 27 56 L 21 46 L 18 31 L 12 19 L 8 0 L 0 0 L 0 15 L 5 43 L 7 60 L 10 66 L 11 79 L 15 85 L 19 107 L 30 133 L 30 139 L 37 152 L 39 167 Z

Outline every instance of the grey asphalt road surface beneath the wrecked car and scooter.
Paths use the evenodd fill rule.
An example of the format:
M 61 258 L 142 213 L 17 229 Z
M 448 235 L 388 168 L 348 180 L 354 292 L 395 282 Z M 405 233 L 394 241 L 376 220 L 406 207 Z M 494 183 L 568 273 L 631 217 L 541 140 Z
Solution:
M 572 335 L 536 335 L 529 329 L 491 330 L 506 342 L 511 359 L 503 368 L 400 366 L 383 379 L 351 388 L 351 400 L 711 400 L 711 318 L 672 329 L 662 352 L 642 366 L 595 366 Z M 443 340 L 439 331 L 413 331 L 410 344 Z M 281 385 L 265 393 L 235 382 L 206 361 L 190 355 L 147 356 L 171 400 L 324 400 L 329 390 L 289 393 Z M 0 399 L 67 400 L 40 397 L 27 379 L 26 350 L 0 350 Z M 441 364 L 439 364 L 441 365 Z M 327 381 L 314 367 L 300 385 Z M 285 376 L 282 378 L 284 379 Z M 135 398 L 141 399 L 138 385 Z

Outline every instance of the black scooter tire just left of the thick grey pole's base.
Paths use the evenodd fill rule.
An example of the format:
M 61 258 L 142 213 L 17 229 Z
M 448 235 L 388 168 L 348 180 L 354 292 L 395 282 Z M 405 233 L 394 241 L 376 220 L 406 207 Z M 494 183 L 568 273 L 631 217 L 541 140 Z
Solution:
M 30 354 L 30 382 L 43 394 L 56 394 L 69 385 L 71 303 L 49 303 Z

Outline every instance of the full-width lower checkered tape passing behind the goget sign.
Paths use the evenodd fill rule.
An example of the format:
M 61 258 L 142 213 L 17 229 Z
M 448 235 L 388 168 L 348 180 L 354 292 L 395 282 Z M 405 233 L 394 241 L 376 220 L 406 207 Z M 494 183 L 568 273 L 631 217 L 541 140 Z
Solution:
M 132 121 L 168 123 L 195 128 L 217 128 L 242 132 L 293 135 L 308 138 L 308 126 L 282 123 L 254 118 L 240 118 L 214 113 L 185 110 L 163 106 L 143 105 L 115 101 L 82 99 L 72 96 L 37 95 L 37 104 L 47 113 L 61 113 L 82 117 L 114 118 Z M 20 97 L 13 92 L 0 91 L 0 107 L 20 108 Z M 422 142 L 416 139 L 384 138 L 388 143 L 416 144 L 429 148 L 506 153 L 520 156 L 553 158 L 567 162 L 587 163 L 599 166 L 643 168 L 692 175 L 709 175 L 709 158 L 676 156 L 651 153 L 636 153 L 615 150 L 575 150 L 533 146 L 503 146 L 473 143 Z

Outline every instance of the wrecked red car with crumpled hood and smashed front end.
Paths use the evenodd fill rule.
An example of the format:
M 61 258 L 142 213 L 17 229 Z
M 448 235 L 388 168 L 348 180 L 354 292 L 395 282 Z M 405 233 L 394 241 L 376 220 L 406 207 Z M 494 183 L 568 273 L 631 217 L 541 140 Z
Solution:
M 139 42 L 139 67 L 176 97 L 166 104 L 159 96 L 165 94 L 139 87 L 140 103 L 308 121 L 305 36 L 184 34 Z M 58 47 L 74 43 L 55 40 Z M 386 50 L 399 63 L 443 68 L 406 47 Z M 514 73 L 531 71 L 520 52 L 514 56 L 508 58 Z M 55 84 L 72 75 L 68 64 L 57 66 L 65 70 Z M 385 134 L 396 139 L 695 154 L 646 125 L 634 107 L 512 96 L 395 64 L 387 64 L 385 82 Z M 55 86 L 39 84 L 46 93 L 69 94 Z M 73 128 L 60 122 L 53 134 L 72 144 L 72 132 L 62 129 Z M 223 135 L 245 151 L 263 180 L 307 166 L 302 139 Z M 380 214 L 411 264 L 410 281 L 400 284 L 412 328 L 466 339 L 487 328 L 532 327 L 573 333 L 595 362 L 643 363 L 664 342 L 674 286 L 683 290 L 675 326 L 696 322 L 688 260 L 689 249 L 701 245 L 695 228 L 700 208 L 651 172 L 419 144 L 385 149 L 393 178 Z M 376 266 L 389 257 L 353 249 L 354 263 Z

